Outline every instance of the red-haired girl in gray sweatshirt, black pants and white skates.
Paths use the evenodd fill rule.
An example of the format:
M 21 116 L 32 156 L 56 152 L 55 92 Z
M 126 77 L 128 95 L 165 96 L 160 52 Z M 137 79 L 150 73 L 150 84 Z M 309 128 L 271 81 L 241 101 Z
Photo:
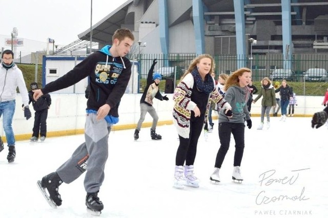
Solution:
M 232 107 L 232 117 L 228 117 L 222 110 L 219 112 L 219 138 L 220 148 L 216 155 L 214 172 L 210 180 L 220 182 L 219 171 L 230 145 L 231 133 L 235 140 L 234 170 L 232 179 L 242 181 L 240 164 L 244 152 L 244 131 L 246 120 L 249 129 L 252 128 L 251 117 L 247 108 L 247 101 L 251 91 L 247 87 L 251 82 L 252 71 L 248 68 L 240 68 L 229 76 L 226 83 L 226 100 Z

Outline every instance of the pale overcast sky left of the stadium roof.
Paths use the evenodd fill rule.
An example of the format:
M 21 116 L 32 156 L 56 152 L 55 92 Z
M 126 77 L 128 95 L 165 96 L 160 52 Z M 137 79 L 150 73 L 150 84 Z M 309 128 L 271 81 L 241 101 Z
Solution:
M 18 38 L 67 45 L 77 35 L 90 29 L 91 0 L 10 0 L 0 1 L 0 34 L 11 35 L 13 27 Z M 92 25 L 117 9 L 127 0 L 93 0 Z M 1 42 L 2 45 L 4 42 Z

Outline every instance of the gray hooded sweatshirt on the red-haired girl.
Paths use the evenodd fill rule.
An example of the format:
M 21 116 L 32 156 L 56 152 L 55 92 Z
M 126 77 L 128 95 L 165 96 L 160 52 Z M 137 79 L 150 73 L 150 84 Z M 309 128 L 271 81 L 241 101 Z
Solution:
M 224 95 L 232 108 L 232 117 L 227 117 L 223 110 L 219 111 L 219 123 L 244 123 L 245 120 L 250 120 L 250 113 L 247 109 L 247 101 L 249 100 L 251 90 L 245 86 L 243 88 L 233 85 L 230 86 Z

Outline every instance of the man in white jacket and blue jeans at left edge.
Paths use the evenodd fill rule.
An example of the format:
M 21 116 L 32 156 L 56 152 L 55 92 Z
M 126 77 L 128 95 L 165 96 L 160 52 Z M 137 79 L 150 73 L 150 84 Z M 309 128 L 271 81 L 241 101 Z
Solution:
M 3 116 L 3 128 L 8 143 L 9 163 L 14 162 L 16 156 L 15 135 L 12 130 L 12 120 L 16 106 L 16 90 L 19 89 L 23 100 L 23 110 L 26 120 L 31 117 L 29 109 L 29 96 L 25 85 L 22 71 L 13 62 L 14 53 L 11 50 L 2 52 L 2 63 L 0 65 L 0 117 Z M 0 136 L 0 152 L 4 150 L 4 143 Z

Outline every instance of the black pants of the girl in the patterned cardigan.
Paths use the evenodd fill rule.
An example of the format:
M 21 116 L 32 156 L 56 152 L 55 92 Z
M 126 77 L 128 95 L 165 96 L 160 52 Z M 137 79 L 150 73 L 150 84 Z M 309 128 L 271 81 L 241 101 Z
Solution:
M 179 135 L 180 144 L 176 152 L 175 165 L 183 166 L 186 161 L 186 165 L 194 165 L 197 143 L 200 136 L 204 122 L 204 115 L 194 116 L 192 113 L 190 118 L 190 133 L 189 138 L 183 138 Z

